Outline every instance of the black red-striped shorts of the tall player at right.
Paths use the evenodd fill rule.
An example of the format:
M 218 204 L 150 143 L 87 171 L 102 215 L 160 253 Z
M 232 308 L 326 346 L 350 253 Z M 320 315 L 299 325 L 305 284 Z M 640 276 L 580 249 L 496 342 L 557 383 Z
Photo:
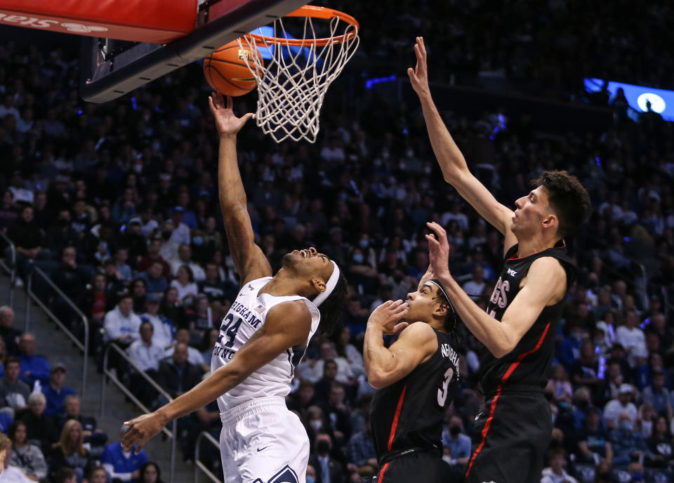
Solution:
M 553 432 L 550 403 L 540 391 L 490 397 L 478 414 L 466 483 L 540 483 Z

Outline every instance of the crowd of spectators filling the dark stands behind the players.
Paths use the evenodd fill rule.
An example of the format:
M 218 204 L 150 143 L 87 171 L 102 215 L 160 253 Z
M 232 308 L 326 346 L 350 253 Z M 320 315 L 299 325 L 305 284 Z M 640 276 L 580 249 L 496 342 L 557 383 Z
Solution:
M 437 2 L 456 11 L 423 14 L 435 3 L 415 3 L 421 10 L 410 8 L 414 18 L 411 13 L 407 20 L 382 15 L 386 21 L 378 32 L 389 40 L 364 41 L 364 53 L 407 58 L 416 29 L 435 29 L 451 44 L 450 55 L 432 66 L 438 77 L 505 69 L 508 78 L 559 88 L 578 81 L 571 75 L 588 59 L 594 62 L 589 35 L 610 39 L 612 55 L 602 56 L 599 65 L 607 75 L 649 82 L 671 70 L 670 61 L 660 60 L 658 70 L 641 69 L 646 55 L 630 57 L 640 63 L 619 71 L 628 62 L 612 58 L 629 51 L 630 43 L 620 35 L 606 37 L 601 22 L 596 29 L 579 24 L 574 34 L 546 42 L 539 52 L 532 39 L 547 39 L 555 15 L 570 15 L 576 1 L 548 2 L 550 16 L 536 20 L 535 9 L 527 8 L 531 2 L 522 4 L 522 18 L 510 16 L 509 40 L 499 40 L 498 47 L 492 36 L 503 27 L 484 27 L 503 20 L 491 3 Z M 469 4 L 486 15 L 473 18 Z M 613 12 L 623 4 L 592 8 Z M 350 7 L 365 19 L 374 17 L 364 9 L 385 8 L 378 2 Z M 666 22 L 666 15 L 656 14 L 666 11 L 664 2 L 656 2 L 639 13 L 655 19 L 653 39 Z M 416 25 L 421 16 L 428 20 Z M 371 33 L 363 29 L 363 35 Z M 565 57 L 577 44 L 584 45 L 587 59 Z M 541 63 L 535 52 L 549 62 Z M 107 345 L 117 345 L 176 397 L 208 373 L 220 321 L 238 291 L 218 206 L 218 139 L 204 79 L 198 68 L 185 67 L 133 96 L 87 104 L 77 93 L 74 59 L 59 49 L 0 45 L 0 230 L 17 247 L 24 283 L 31 267 L 39 266 L 85 312 L 93 328 L 88 343 L 100 364 Z M 574 69 L 560 67 L 568 62 Z M 342 99 L 338 91 L 334 98 Z M 250 102 L 236 100 L 235 110 L 251 110 Z M 272 267 L 291 249 L 316 246 L 341 265 L 349 282 L 344 329 L 312 340 L 288 398 L 312 442 L 309 479 L 315 482 L 359 482 L 376 472 L 369 429 L 374 390 L 364 374 L 362 336 L 376 305 L 416 289 L 428 267 L 424 223 L 447 227 L 451 272 L 482 307 L 503 256 L 498 232 L 442 182 L 418 107 L 401 108 L 374 92 L 347 107 L 338 110 L 326 99 L 317 145 L 276 145 L 252 124 L 239 135 L 253 230 Z M 611 482 L 619 472 L 672 477 L 673 125 L 616 117 L 601 133 L 539 133 L 509 112 L 442 115 L 470 166 L 500 201 L 511 204 L 529 191 L 529 179 L 553 168 L 579 176 L 593 199 L 592 218 L 568 240 L 579 278 L 569 291 L 546 388 L 555 430 L 543 481 Z M 77 329 L 69 307 L 53 304 Z M 130 461 L 118 442 L 105 446 L 107 436 L 80 414 L 79 398 L 63 385 L 66 368 L 35 355 L 34 336 L 13 329 L 12 321 L 11 310 L 2 307 L 0 429 L 13 441 L 15 468 L 51 481 L 72 479 L 62 468 L 72 468 L 78 482 L 158 481 L 159 468 L 147 457 Z M 460 388 L 442 435 L 444 460 L 457 481 L 484 399 L 481 350 L 465 333 L 458 348 Z M 145 406 L 166 402 L 121 357 L 111 364 Z M 194 458 L 199 432 L 218 439 L 220 427 L 215 404 L 182 418 L 183 456 Z M 218 470 L 218 449 L 204 443 L 201 456 Z

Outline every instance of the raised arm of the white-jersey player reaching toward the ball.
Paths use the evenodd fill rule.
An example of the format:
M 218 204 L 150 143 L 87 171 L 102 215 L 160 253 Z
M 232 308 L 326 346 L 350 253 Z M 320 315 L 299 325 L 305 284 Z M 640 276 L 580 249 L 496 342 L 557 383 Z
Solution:
M 253 114 L 235 117 L 232 98 L 227 98 L 227 107 L 220 94 L 209 97 L 211 112 L 220 134 L 218 151 L 218 192 L 220 209 L 223 211 L 225 232 L 230 244 L 234 266 L 243 286 L 246 282 L 272 274 L 272 267 L 260 247 L 255 244 L 251 216 L 246 204 L 246 192 L 237 162 L 237 133 Z

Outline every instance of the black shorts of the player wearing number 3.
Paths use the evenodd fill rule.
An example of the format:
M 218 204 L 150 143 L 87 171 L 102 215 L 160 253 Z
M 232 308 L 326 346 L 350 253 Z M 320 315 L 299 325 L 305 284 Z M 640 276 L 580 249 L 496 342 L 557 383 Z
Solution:
M 399 456 L 379 468 L 376 483 L 447 483 L 450 467 L 439 452 L 418 451 Z

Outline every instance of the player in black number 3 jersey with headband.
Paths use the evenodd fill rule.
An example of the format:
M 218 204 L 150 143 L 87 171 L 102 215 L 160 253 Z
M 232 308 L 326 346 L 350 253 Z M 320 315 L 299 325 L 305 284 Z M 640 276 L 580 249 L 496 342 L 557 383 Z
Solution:
M 407 302 L 389 300 L 367 321 L 363 354 L 368 381 L 377 389 L 370 424 L 378 483 L 448 479 L 441 437 L 458 381 L 458 319 L 442 283 L 432 276 L 426 272 Z M 385 333 L 400 334 L 389 348 Z

